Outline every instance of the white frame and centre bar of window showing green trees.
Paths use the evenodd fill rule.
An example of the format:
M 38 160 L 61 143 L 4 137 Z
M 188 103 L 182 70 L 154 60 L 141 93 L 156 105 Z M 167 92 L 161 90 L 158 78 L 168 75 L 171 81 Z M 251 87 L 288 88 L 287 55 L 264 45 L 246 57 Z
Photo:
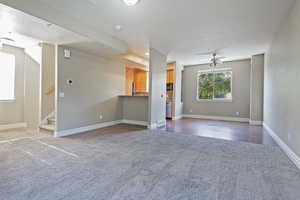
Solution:
M 215 86 L 213 87 L 213 98 L 212 99 L 200 99 L 199 98 L 199 78 L 201 74 L 208 74 L 208 73 L 218 73 L 218 72 L 230 72 L 231 73 L 231 81 L 230 81 L 230 89 L 231 89 L 231 99 L 226 99 L 226 98 L 215 98 L 214 97 L 214 90 Z M 196 92 L 196 100 L 198 102 L 220 102 L 220 103 L 232 103 L 233 102 L 233 70 L 232 68 L 219 68 L 219 69 L 214 69 L 212 71 L 211 69 L 207 70 L 200 70 L 197 73 L 197 92 Z

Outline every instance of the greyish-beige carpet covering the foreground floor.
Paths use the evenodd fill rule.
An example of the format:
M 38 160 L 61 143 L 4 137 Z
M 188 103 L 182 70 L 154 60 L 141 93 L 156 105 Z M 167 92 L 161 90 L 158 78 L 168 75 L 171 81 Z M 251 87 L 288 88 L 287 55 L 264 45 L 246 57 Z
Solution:
M 300 172 L 277 147 L 163 131 L 101 133 L 0 133 L 0 199 L 300 199 Z

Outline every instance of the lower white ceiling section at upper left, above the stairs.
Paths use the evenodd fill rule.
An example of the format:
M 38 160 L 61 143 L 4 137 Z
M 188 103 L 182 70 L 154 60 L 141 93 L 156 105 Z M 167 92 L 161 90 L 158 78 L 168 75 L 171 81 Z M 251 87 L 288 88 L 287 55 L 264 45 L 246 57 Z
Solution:
M 2 42 L 20 48 L 29 48 L 40 42 L 47 42 L 105 57 L 119 55 L 118 51 L 102 43 L 91 41 L 87 37 L 3 4 L 0 4 L 0 37 L 13 39 L 13 42 L 8 40 Z

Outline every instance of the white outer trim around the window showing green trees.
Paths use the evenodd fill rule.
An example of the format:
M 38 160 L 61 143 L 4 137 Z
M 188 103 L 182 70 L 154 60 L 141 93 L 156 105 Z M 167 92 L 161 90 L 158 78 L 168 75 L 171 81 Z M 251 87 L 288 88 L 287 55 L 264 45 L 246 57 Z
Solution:
M 232 68 L 219 68 L 219 69 L 215 69 L 214 72 L 225 72 L 225 71 L 229 71 L 231 72 L 231 99 L 199 99 L 199 95 L 198 95 L 198 92 L 199 92 L 199 75 L 202 74 L 202 73 L 209 73 L 209 72 L 212 72 L 212 70 L 210 69 L 207 69 L 207 70 L 200 70 L 198 71 L 197 73 L 197 92 L 196 92 L 196 100 L 198 102 L 207 102 L 207 103 L 232 103 L 233 102 L 233 71 L 232 71 Z

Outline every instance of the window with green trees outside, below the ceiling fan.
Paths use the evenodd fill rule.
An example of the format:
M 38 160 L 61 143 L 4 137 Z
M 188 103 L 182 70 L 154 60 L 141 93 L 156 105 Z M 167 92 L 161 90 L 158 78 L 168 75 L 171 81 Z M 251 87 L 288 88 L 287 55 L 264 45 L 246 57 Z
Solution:
M 200 71 L 198 100 L 232 100 L 232 71 Z

